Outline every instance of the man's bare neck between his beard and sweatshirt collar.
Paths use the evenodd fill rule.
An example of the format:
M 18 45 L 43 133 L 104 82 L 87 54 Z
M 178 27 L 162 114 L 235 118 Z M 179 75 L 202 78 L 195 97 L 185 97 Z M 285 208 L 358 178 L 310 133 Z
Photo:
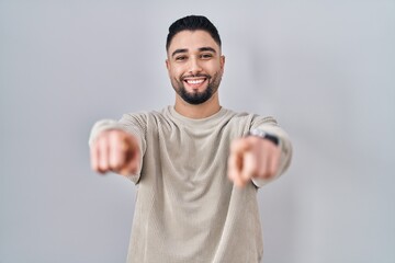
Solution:
M 182 100 L 178 94 L 176 94 L 176 112 L 179 114 L 189 117 L 189 118 L 205 118 L 214 115 L 215 113 L 219 112 L 221 105 L 218 100 L 218 93 L 215 92 L 208 101 L 193 105 L 187 103 Z

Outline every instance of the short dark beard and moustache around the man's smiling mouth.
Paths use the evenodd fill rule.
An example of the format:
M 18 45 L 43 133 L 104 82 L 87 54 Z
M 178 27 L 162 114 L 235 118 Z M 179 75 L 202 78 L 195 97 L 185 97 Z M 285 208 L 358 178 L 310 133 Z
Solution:
M 208 82 L 207 88 L 204 91 L 193 91 L 189 92 L 184 85 L 184 79 L 191 77 L 204 77 Z M 183 101 L 189 104 L 199 105 L 206 101 L 208 101 L 213 94 L 218 90 L 221 83 L 222 75 L 221 72 L 216 72 L 213 77 L 210 75 L 189 75 L 181 77 L 180 80 L 171 79 L 171 84 L 177 92 L 181 96 Z

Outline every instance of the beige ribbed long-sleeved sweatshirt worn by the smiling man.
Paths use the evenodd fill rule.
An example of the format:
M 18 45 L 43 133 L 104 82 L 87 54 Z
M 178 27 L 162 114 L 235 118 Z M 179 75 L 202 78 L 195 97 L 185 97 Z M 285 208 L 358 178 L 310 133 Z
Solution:
M 131 176 L 138 187 L 128 263 L 261 262 L 257 187 L 268 181 L 238 188 L 226 172 L 230 141 L 252 128 L 280 138 L 278 176 L 286 170 L 291 142 L 272 117 L 221 108 L 191 119 L 168 106 L 98 122 L 90 142 L 111 128 L 135 135 L 142 149 L 142 170 Z

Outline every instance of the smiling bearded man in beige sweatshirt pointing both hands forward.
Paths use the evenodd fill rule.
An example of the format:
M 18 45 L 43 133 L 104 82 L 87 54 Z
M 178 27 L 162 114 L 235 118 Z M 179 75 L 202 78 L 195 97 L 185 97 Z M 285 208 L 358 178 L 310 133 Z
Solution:
M 286 170 L 289 137 L 219 105 L 225 57 L 206 18 L 176 21 L 166 48 L 174 106 L 101 121 L 90 138 L 93 170 L 138 185 L 127 262 L 260 262 L 257 188 Z

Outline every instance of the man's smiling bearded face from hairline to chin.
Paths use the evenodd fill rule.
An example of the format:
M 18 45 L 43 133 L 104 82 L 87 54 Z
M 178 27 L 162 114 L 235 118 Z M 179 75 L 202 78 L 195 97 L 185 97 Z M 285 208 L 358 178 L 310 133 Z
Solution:
M 205 31 L 181 31 L 174 35 L 166 66 L 176 92 L 190 104 L 206 102 L 217 90 L 225 57 Z

